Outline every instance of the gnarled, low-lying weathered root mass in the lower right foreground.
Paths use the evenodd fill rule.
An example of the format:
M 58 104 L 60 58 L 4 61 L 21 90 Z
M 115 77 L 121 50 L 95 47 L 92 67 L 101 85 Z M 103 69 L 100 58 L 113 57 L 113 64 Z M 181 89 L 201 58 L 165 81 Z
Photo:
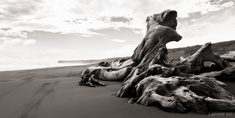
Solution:
M 174 112 L 184 113 L 192 109 L 198 113 L 208 113 L 209 108 L 235 110 L 234 96 L 212 78 L 149 76 L 136 85 L 136 93 L 137 97 L 129 103 L 160 103 L 162 107 Z

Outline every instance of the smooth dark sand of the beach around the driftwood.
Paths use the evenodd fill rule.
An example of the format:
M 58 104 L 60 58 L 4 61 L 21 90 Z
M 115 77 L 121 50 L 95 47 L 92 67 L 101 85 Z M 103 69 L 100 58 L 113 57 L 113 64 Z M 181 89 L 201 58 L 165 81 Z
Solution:
M 118 98 L 120 82 L 106 87 L 78 86 L 87 66 L 0 72 L 0 118 L 208 118 L 193 112 L 128 104 Z M 235 83 L 226 82 L 235 95 Z M 233 117 L 235 113 L 233 113 Z

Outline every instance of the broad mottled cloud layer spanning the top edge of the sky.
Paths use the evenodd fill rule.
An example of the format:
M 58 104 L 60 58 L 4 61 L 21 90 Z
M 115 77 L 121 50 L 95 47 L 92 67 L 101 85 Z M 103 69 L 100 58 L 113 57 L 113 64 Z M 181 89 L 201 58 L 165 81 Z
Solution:
M 0 23 L 6 25 L 0 28 L 91 36 L 99 35 L 92 32 L 92 29 L 126 27 L 141 30 L 137 33 L 144 34 L 145 17 L 167 8 L 176 9 L 179 17 L 183 18 L 189 17 L 190 13 L 218 11 L 233 4 L 231 0 L 2 0 L 0 17 L 4 20 L 0 20 Z

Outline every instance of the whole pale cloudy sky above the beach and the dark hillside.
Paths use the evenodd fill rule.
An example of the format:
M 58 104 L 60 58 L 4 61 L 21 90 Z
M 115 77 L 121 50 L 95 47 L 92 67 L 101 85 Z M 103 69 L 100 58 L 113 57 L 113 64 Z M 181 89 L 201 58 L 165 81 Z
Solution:
M 235 38 L 234 0 L 1 0 L 0 63 L 128 56 L 148 15 L 178 11 L 168 48 Z

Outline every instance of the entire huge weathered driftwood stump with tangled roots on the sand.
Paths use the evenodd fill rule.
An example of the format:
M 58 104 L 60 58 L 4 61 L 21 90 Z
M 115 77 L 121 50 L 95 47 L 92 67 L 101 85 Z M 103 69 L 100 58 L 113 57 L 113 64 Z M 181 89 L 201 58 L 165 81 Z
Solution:
M 121 81 L 118 97 L 130 97 L 129 103 L 160 105 L 170 112 L 235 111 L 235 98 L 222 82 L 235 78 L 235 66 L 215 54 L 211 43 L 176 65 L 168 61 L 166 44 L 182 38 L 176 32 L 176 17 L 174 10 L 148 16 L 146 36 L 130 58 L 89 67 L 79 84 L 95 87 L 104 86 L 98 80 Z

